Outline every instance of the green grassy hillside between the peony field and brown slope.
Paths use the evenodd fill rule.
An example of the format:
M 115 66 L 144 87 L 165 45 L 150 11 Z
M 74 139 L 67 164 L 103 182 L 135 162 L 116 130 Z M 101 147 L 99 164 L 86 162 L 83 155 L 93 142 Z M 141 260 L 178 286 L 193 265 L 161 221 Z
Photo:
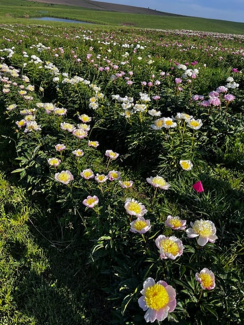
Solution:
M 67 10 L 68 9 L 68 10 Z M 196 17 L 154 16 L 92 10 L 82 7 L 33 3 L 24 0 L 0 0 L 0 22 L 32 24 L 32 17 L 58 17 L 94 22 L 110 26 L 130 26 L 156 29 L 191 29 L 244 34 L 244 23 Z M 17 18 L 17 19 L 16 19 Z

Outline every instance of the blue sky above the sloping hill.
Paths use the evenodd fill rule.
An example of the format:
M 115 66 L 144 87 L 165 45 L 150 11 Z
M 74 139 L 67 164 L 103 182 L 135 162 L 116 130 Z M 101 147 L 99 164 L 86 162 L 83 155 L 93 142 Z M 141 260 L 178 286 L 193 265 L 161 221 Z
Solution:
M 102 2 L 149 7 L 187 16 L 244 22 L 244 0 L 103 0 Z

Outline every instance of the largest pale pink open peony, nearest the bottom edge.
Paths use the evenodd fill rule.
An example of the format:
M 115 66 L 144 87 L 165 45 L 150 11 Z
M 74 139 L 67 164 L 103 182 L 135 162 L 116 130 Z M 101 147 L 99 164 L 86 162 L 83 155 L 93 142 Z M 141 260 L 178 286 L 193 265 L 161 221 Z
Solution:
M 146 322 L 164 320 L 168 313 L 176 307 L 175 289 L 165 281 L 147 278 L 143 282 L 141 290 L 142 297 L 138 299 L 139 306 L 146 311 L 144 318 Z

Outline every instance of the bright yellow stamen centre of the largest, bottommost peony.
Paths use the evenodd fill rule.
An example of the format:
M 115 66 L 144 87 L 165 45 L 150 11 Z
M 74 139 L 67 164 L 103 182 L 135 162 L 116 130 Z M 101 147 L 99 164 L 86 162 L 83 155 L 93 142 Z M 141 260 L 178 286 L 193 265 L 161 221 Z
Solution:
M 145 303 L 154 310 L 159 311 L 169 302 L 169 295 L 165 287 L 161 284 L 149 286 L 145 291 Z

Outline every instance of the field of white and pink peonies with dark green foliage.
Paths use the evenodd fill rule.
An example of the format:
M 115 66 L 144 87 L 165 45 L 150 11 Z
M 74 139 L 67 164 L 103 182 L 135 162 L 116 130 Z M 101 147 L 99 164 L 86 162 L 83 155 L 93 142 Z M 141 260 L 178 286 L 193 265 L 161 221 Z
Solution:
M 0 34 L 2 170 L 69 242 L 86 312 L 65 325 L 242 324 L 244 36 Z

